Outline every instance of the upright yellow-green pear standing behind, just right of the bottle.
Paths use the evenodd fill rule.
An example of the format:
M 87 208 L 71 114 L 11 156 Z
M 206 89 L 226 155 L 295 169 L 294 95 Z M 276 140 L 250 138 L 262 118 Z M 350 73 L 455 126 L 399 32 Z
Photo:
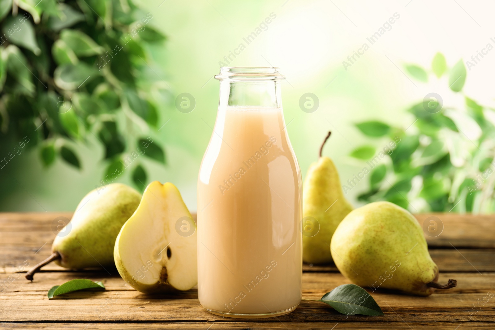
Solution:
M 330 241 L 342 219 L 352 211 L 342 191 L 334 162 L 322 157 L 310 165 L 302 186 L 302 260 L 310 264 L 332 261 Z

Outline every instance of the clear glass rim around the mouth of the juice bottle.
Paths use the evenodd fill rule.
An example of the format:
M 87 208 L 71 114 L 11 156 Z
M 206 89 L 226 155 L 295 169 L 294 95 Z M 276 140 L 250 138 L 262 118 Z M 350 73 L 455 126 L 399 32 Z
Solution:
M 215 79 L 223 80 L 282 80 L 285 77 L 273 66 L 224 66 Z

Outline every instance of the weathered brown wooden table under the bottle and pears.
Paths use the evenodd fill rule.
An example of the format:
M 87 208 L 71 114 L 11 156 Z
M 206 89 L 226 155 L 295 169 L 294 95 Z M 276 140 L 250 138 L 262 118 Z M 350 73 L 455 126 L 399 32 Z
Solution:
M 456 279 L 453 289 L 429 297 L 376 291 L 372 296 L 385 316 L 347 317 L 323 303 L 303 301 L 288 315 L 257 320 L 207 313 L 199 305 L 196 289 L 173 296 L 128 289 L 115 272 L 49 265 L 33 282 L 27 281 L 19 271 L 49 256 L 52 222 L 59 216 L 70 219 L 71 214 L 0 213 L 1 329 L 495 329 L 493 216 L 417 216 L 420 224 L 430 216 L 443 223 L 441 235 L 426 237 L 441 271 L 439 282 Z M 304 265 L 303 270 L 304 298 L 319 299 L 337 285 L 349 283 L 333 265 Z M 78 278 L 102 281 L 106 291 L 79 291 L 48 300 L 50 287 Z

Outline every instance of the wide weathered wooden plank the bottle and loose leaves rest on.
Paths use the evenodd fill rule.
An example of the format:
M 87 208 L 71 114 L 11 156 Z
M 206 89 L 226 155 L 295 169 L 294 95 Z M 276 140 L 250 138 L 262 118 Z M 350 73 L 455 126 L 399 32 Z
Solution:
M 15 275 L 15 274 L 14 274 Z M 19 275 L 19 274 L 17 274 Z M 0 294 L 0 321 L 214 321 L 198 302 L 196 289 L 173 295 L 147 295 L 128 289 L 118 277 L 103 274 L 85 276 L 101 280 L 106 291 L 78 291 L 48 300 L 53 285 L 73 278 L 74 273 L 38 274 L 33 283 L 23 278 L 13 280 Z M 88 274 L 85 274 L 88 275 Z M 0 280 L 9 274 L 2 274 Z M 386 313 L 384 321 L 453 321 L 487 322 L 495 320 L 495 274 L 442 274 L 441 281 L 455 278 L 458 286 L 429 297 L 371 292 Z M 303 297 L 318 299 L 337 285 L 349 283 L 337 273 L 304 273 Z M 473 305 L 476 305 L 473 307 Z M 29 313 L 26 313 L 29 310 Z M 323 303 L 303 301 L 297 310 L 279 319 L 287 321 L 344 321 L 342 315 Z

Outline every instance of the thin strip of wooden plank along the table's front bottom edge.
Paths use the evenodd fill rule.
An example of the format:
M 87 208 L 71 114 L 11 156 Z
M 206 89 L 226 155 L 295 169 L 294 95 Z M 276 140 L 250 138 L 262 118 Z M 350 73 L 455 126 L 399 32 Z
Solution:
M 356 316 L 357 318 L 357 316 Z M 228 319 L 231 320 L 231 319 Z M 268 321 L 269 320 L 269 321 Z M 464 329 L 493 329 L 493 322 L 390 322 L 373 321 L 369 318 L 362 321 L 344 320 L 341 322 L 281 322 L 275 318 L 262 319 L 257 322 L 229 322 L 227 319 L 216 322 L 143 322 L 143 323 L 0 323 L 0 327 L 6 329 L 43 329 L 43 330 L 95 330 L 95 329 L 120 329 L 120 330 L 154 330 L 154 329 L 180 329 L 180 330 L 287 330 L 287 329 L 349 329 L 349 330 L 459 330 Z M 86 327 L 86 328 L 85 328 Z M 335 328 L 333 328 L 335 327 Z

